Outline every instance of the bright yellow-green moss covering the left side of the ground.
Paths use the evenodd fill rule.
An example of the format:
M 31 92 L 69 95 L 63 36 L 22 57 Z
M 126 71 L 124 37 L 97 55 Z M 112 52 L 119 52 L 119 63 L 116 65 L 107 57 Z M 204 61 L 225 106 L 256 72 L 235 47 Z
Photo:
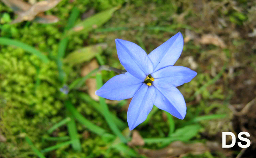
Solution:
M 119 2 L 117 1 L 117 3 Z M 113 5 L 117 4 L 109 1 L 109 5 L 105 6 L 104 4 L 104 9 L 111 8 Z M 59 82 L 55 58 L 64 25 L 74 6 L 79 8 L 80 13 L 83 13 L 92 6 L 101 10 L 103 2 L 79 0 L 69 3 L 68 0 L 63 0 L 56 8 L 47 12 L 47 14 L 54 14 L 61 19 L 60 22 L 50 25 L 33 22 L 9 25 L 10 18 L 14 19 L 13 13 L 10 8 L 0 3 L 0 11 L 5 12 L 0 17 L 0 22 L 3 24 L 0 35 L 29 44 L 50 58 L 50 62 L 44 64 L 36 56 L 21 48 L 0 46 L 1 132 L 8 141 L 8 143 L 0 144 L 0 151 L 6 157 L 16 157 L 27 152 L 30 153 L 25 154 L 24 157 L 34 155 L 31 154 L 31 147 L 25 142 L 25 135 L 31 138 L 38 149 L 55 144 L 43 141 L 42 135 L 45 135 L 51 126 L 66 117 L 64 98 L 60 92 L 63 85 Z M 66 52 L 83 47 L 83 40 L 87 37 L 88 35 L 73 35 Z M 79 68 L 74 71 L 72 68 L 64 66 L 64 71 L 71 81 L 78 78 L 80 74 Z M 102 117 L 91 110 L 91 107 L 76 97 L 72 100 L 76 105 L 80 105 L 83 115 L 89 118 L 98 118 L 94 122 L 104 125 Z M 78 127 L 79 133 L 82 134 L 84 126 L 79 125 Z M 60 133 L 62 136 L 67 135 L 65 127 L 60 130 L 64 131 L 64 134 Z M 95 141 L 94 138 L 99 139 L 97 135 L 92 134 L 90 139 L 83 142 L 84 155 L 89 155 L 91 152 L 98 155 L 104 154 L 105 151 L 100 151 L 97 148 L 97 146 L 102 146 L 102 142 Z M 87 141 L 90 142 L 93 150 L 87 150 Z M 62 149 L 56 151 L 56 153 L 58 152 L 62 154 Z

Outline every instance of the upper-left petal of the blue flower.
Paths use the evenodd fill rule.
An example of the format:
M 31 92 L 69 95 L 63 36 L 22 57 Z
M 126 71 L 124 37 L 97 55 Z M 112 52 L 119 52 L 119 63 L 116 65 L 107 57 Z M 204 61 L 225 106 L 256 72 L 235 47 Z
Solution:
M 144 80 L 153 72 L 153 65 L 147 53 L 137 44 L 116 39 L 117 55 L 125 70 L 138 79 Z

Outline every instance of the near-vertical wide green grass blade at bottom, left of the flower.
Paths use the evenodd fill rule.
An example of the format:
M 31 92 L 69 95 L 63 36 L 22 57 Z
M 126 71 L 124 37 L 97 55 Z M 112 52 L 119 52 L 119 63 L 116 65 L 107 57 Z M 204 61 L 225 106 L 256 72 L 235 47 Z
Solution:
M 65 104 L 68 104 L 70 101 L 67 100 L 65 102 Z M 82 151 L 82 147 L 81 147 L 81 143 L 80 143 L 80 140 L 79 140 L 79 135 L 78 135 L 78 132 L 76 130 L 76 122 L 75 122 L 75 119 L 73 118 L 72 114 L 70 111 L 67 110 L 67 115 L 69 118 L 71 118 L 71 121 L 69 121 L 67 123 L 67 127 L 68 127 L 68 134 L 70 136 L 70 139 L 71 141 L 73 141 L 72 143 L 72 148 L 75 150 L 75 151 L 79 151 L 81 152 Z

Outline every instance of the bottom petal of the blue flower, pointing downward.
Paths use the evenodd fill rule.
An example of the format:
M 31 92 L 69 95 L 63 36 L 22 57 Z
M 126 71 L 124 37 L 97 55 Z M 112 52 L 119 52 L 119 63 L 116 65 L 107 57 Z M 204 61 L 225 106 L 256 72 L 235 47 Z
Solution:
M 127 122 L 130 130 L 146 120 L 147 115 L 153 108 L 154 101 L 155 87 L 143 84 L 132 98 L 128 108 Z

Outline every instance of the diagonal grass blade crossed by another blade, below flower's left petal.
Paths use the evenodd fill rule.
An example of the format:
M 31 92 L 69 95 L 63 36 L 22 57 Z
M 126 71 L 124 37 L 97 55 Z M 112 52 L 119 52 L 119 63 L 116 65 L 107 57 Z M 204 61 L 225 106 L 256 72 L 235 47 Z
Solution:
M 83 99 L 86 103 L 88 103 L 91 107 L 95 108 L 95 110 L 97 110 L 101 115 L 104 116 L 102 106 L 95 100 L 91 99 L 89 95 L 80 93 L 79 98 Z M 113 122 L 118 126 L 120 130 L 124 130 L 127 127 L 127 123 L 124 123 L 116 115 L 111 113 L 110 116 L 112 117 Z

